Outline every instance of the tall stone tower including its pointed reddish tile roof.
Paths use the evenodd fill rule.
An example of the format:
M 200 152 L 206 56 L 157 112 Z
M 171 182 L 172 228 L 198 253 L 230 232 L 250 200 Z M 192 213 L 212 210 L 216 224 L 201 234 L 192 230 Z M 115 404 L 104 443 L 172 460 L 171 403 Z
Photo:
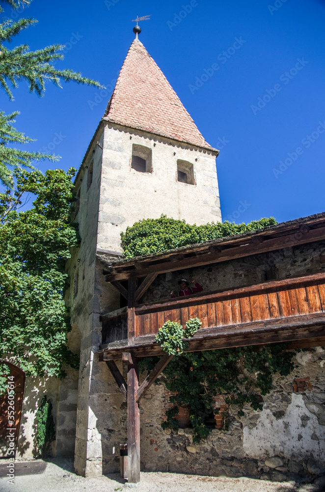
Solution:
M 121 254 L 120 233 L 165 214 L 189 223 L 220 221 L 215 159 L 162 71 L 138 39 L 131 44 L 75 186 L 81 247 L 67 264 L 74 347 L 80 345 L 75 468 L 82 475 L 116 471 L 111 376 L 98 363 L 101 314 L 120 297 L 104 285 L 96 253 Z M 106 369 L 106 370 L 105 370 Z M 61 384 L 57 449 L 73 449 L 76 382 Z M 115 398 L 115 397 L 114 397 Z M 119 399 L 120 395 L 116 395 Z M 115 400 L 114 400 L 115 401 Z M 69 437 L 71 436 L 71 437 Z M 120 437 L 123 439 L 123 435 Z M 121 441 L 122 442 L 122 441 Z

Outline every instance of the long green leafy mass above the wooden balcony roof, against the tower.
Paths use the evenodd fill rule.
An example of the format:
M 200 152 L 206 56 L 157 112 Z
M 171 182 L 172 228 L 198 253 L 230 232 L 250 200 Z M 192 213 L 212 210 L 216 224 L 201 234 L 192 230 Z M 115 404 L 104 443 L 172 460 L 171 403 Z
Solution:
M 158 219 L 142 219 L 121 233 L 121 244 L 126 258 L 181 246 L 202 243 L 241 232 L 262 229 L 276 224 L 273 217 L 253 220 L 249 224 L 235 224 L 225 221 L 205 225 L 190 225 L 185 220 L 176 220 L 162 215 Z

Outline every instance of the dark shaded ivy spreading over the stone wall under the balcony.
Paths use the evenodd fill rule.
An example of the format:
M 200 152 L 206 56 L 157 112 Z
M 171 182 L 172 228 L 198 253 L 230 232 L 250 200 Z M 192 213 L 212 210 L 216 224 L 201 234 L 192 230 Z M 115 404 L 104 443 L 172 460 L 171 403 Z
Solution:
M 188 352 L 173 358 L 163 374 L 166 388 L 173 393 L 170 401 L 175 406 L 166 412 L 167 421 L 162 427 L 178 429 L 174 416 L 179 406 L 186 407 L 190 410 L 193 442 L 206 439 L 211 431 L 211 415 L 218 411 L 214 397 L 220 394 L 228 405 L 234 405 L 232 411 L 239 417 L 244 415 L 244 404 L 262 410 L 261 395 L 270 392 L 273 374 L 286 376 L 294 368 L 294 352 L 286 348 L 285 343 L 235 347 Z M 151 370 L 158 359 L 144 359 L 142 369 Z M 228 416 L 223 417 L 223 429 L 227 430 Z

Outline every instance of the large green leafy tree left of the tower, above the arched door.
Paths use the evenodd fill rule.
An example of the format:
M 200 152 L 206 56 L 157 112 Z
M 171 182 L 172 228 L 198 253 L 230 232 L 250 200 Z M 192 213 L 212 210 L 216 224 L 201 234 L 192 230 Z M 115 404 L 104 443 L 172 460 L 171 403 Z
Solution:
M 9 356 L 27 375 L 64 377 L 66 364 L 79 364 L 66 346 L 63 301 L 65 261 L 79 242 L 69 223 L 75 172 L 16 170 L 15 189 L 0 194 L 0 359 Z M 24 193 L 36 199 L 19 212 Z

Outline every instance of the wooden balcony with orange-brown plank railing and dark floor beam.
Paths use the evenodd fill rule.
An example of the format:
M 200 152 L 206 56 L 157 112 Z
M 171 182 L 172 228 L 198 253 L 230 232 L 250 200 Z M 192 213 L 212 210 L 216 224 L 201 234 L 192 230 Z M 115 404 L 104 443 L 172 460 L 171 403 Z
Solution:
M 195 317 L 202 327 L 190 339 L 189 351 L 320 338 L 325 336 L 325 273 L 141 304 L 134 313 L 134 345 L 127 342 L 127 308 L 103 316 L 105 360 L 120 358 L 126 346 L 138 357 L 162 354 L 154 338 L 163 323 L 184 326 Z

